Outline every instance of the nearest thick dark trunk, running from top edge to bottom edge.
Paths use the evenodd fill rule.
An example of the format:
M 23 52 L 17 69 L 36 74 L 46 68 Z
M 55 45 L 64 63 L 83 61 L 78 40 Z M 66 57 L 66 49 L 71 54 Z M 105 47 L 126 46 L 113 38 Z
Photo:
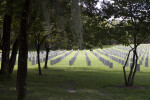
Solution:
M 26 99 L 27 56 L 28 56 L 28 16 L 30 0 L 25 0 L 22 9 L 19 37 L 19 58 L 17 71 L 17 100 Z

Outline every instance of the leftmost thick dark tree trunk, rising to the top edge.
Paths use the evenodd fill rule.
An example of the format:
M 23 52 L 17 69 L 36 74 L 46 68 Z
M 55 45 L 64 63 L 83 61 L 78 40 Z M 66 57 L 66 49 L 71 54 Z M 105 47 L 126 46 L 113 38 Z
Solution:
M 6 1 L 6 13 L 4 14 L 3 20 L 1 73 L 6 76 L 9 76 L 10 32 L 13 10 L 12 3 L 13 0 Z

